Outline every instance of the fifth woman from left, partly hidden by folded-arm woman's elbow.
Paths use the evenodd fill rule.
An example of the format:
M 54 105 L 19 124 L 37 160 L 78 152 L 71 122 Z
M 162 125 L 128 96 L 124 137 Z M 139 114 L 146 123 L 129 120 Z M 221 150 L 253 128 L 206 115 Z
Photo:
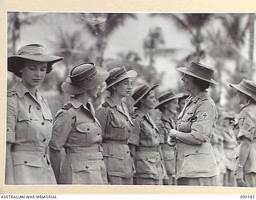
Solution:
M 161 94 L 158 98 L 158 105 L 155 109 L 161 111 L 161 119 L 157 122 L 158 130 L 162 138 L 162 158 L 165 163 L 167 177 L 163 179 L 164 185 L 175 185 L 175 142 L 173 145 L 167 143 L 168 135 L 171 129 L 176 129 L 176 118 L 178 114 L 178 98 L 182 98 L 183 94 L 175 94 L 174 90 L 170 90 Z

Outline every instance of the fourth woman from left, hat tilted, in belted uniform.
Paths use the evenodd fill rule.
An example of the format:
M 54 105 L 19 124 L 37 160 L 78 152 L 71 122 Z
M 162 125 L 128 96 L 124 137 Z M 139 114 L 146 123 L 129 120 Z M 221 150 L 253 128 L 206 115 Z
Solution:
M 132 115 L 134 131 L 129 138 L 136 169 L 135 185 L 162 185 L 163 176 L 166 175 L 159 148 L 160 133 L 149 114 L 156 103 L 154 89 L 157 86 L 138 86 L 131 96 L 133 101 L 130 100 L 131 105 L 137 108 Z

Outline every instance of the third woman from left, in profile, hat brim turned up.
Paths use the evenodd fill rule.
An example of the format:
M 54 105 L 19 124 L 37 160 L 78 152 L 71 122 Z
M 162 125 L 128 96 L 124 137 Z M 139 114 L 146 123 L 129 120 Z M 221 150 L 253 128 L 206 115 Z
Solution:
M 136 71 L 126 71 L 125 66 L 110 70 L 106 87 L 102 89 L 108 90 L 110 97 L 96 110 L 96 116 L 102 124 L 103 156 L 111 185 L 133 184 L 134 164 L 127 144 L 134 123 L 122 100 L 130 96 L 132 78 L 136 76 Z

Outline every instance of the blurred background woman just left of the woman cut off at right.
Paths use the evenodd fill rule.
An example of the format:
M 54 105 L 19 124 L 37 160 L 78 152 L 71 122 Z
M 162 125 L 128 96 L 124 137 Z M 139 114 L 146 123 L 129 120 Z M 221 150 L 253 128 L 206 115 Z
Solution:
M 235 186 L 235 149 L 238 142 L 234 134 L 234 118 L 235 116 L 231 112 L 224 113 L 222 117 L 223 150 L 226 168 L 223 176 L 223 186 Z

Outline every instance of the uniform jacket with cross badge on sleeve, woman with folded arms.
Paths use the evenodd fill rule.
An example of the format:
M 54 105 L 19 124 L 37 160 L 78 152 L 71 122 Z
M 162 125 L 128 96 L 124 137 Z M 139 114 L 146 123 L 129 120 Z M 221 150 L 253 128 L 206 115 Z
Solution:
M 178 116 L 178 131 L 190 134 L 202 144 L 177 142 L 177 178 L 213 177 L 218 170 L 210 136 L 217 110 L 206 91 L 188 100 Z

